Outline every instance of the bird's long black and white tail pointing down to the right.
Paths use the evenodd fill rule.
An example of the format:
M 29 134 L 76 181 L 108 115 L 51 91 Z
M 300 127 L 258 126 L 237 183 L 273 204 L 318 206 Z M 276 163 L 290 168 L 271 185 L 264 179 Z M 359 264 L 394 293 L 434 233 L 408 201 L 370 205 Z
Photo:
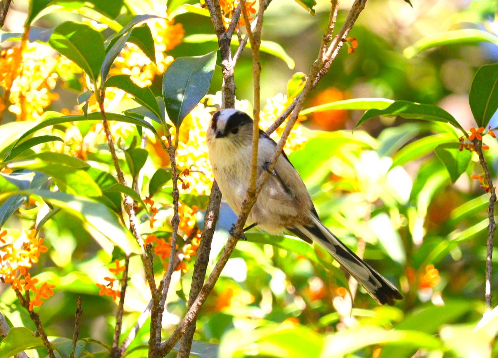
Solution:
M 394 300 L 403 299 L 393 284 L 359 258 L 314 215 L 312 225 L 298 225 L 287 229 L 304 241 L 309 242 L 311 239 L 326 249 L 379 304 L 393 306 Z

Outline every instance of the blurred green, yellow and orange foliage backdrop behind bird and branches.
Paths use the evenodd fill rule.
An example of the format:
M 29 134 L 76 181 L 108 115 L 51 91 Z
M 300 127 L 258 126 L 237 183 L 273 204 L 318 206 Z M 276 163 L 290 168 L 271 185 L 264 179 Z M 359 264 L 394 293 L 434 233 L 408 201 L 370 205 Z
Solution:
M 81 21 L 84 17 L 84 22 L 107 37 L 114 33 L 113 26 L 119 29 L 127 23 L 129 13 L 165 16 L 164 1 L 124 2 L 126 13 L 119 15 L 116 23 L 98 16 L 88 19 L 89 13 L 75 10 L 51 12 L 37 19 L 34 25 L 50 28 L 67 19 Z M 344 20 L 351 3 L 340 2 L 339 22 Z M 470 84 L 477 68 L 497 61 L 497 42 L 461 40 L 419 53 L 413 46 L 421 39 L 442 36 L 452 30 L 477 29 L 498 35 L 497 1 L 413 0 L 412 3 L 413 8 L 401 0 L 369 0 L 350 34 L 358 46 L 352 53 L 339 54 L 305 108 L 359 97 L 404 99 L 437 104 L 465 129 L 474 126 L 468 104 Z M 281 50 L 277 51 L 279 57 L 262 53 L 261 95 L 266 105 L 262 127 L 268 126 L 289 100 L 285 97 L 289 78 L 296 72 L 306 73 L 316 57 L 329 6 L 328 1 L 318 0 L 313 17 L 296 2 L 273 0 L 265 12 L 263 40 L 280 44 L 288 57 Z M 4 28 L 22 33 L 27 11 L 27 1 L 15 0 Z M 209 17 L 186 11 L 174 20 L 152 20 L 149 25 L 156 42 L 157 65 L 147 62 L 143 53 L 129 45 L 111 74 L 132 75 L 135 83 L 150 86 L 156 95 L 161 92 L 162 76 L 158 74 L 174 58 L 203 55 L 217 49 Z M 76 99 L 85 87 L 81 70 L 75 64 L 39 42 L 28 43 L 22 55 L 21 75 L 10 78 L 16 46 L 15 41 L 2 43 L 0 80 L 4 91 L 10 88 L 10 104 L 4 105 L 0 150 L 8 148 L 32 127 L 34 122 L 26 120 L 47 118 L 47 111 L 79 113 Z M 237 64 L 235 81 L 237 106 L 248 113 L 251 105 L 246 99 L 252 98 L 251 78 L 250 51 L 245 50 Z M 179 133 L 178 167 L 190 172 L 183 172 L 182 177 L 180 229 L 184 239 L 198 237 L 197 227 L 202 228 L 203 209 L 212 181 L 204 134 L 210 113 L 219 105 L 217 92 L 221 80 L 221 70 L 217 67 L 210 95 L 185 119 Z M 113 88 L 106 93 L 106 101 L 108 111 L 116 113 L 135 106 L 123 91 Z M 90 99 L 89 104 L 90 112 L 98 110 L 95 100 Z M 476 329 L 485 312 L 489 199 L 479 183 L 470 179 L 472 174 L 482 172 L 477 157 L 473 157 L 467 173 L 452 184 L 445 167 L 433 154 L 434 148 L 447 141 L 448 136 L 458 141 L 449 126 L 381 117 L 352 133 L 361 115 L 362 111 L 346 110 L 307 114 L 301 118 L 286 149 L 323 222 L 400 287 L 405 299 L 395 307 L 379 307 L 363 288 L 348 282 L 338 265 L 320 248 L 291 237 L 271 237 L 251 231 L 248 241 L 237 244 L 198 320 L 196 341 L 220 346 L 212 348 L 194 342 L 193 354 L 196 350 L 206 350 L 212 357 L 218 354 L 226 358 L 498 357 L 498 344 L 494 340 L 496 321 L 484 322 Z M 495 116 L 491 126 L 497 125 Z M 133 156 L 129 148 L 134 148 L 132 140 L 138 138 L 136 129 L 119 123 L 113 123 L 112 129 L 122 149 L 122 167 L 131 178 L 132 169 L 125 163 L 129 164 L 128 157 Z M 36 153 L 63 153 L 86 161 L 96 171 L 109 172 L 112 168 L 99 123 L 54 126 L 38 133 L 57 135 L 64 142 L 41 144 L 34 147 Z M 485 137 L 485 143 L 491 148 L 486 155 L 496 177 L 498 143 L 490 136 Z M 136 186 L 142 198 L 148 197 L 146 205 L 150 213 L 139 212 L 140 229 L 143 234 L 150 234 L 148 237 L 154 242 L 158 254 L 156 273 L 160 277 L 161 264 L 169 255 L 171 187 L 167 181 L 165 186 L 162 182 L 153 195 L 150 183 L 158 168 L 169 166 L 169 160 L 153 138 L 149 138 L 145 148 L 148 157 L 143 165 L 143 178 L 137 179 Z M 2 191 L 11 190 L 6 179 L 0 180 L 3 180 Z M 46 210 L 43 200 L 32 198 L 0 226 L 9 235 L 19 235 L 22 228 L 31 229 L 39 221 L 36 218 L 43 217 L 42 210 Z M 222 203 L 211 265 L 223 248 L 234 215 Z M 49 336 L 71 336 L 75 299 L 82 296 L 84 315 L 80 337 L 112 340 L 116 304 L 99 295 L 96 283 L 103 283 L 103 278 L 109 275 L 108 267 L 113 266 L 115 259 L 122 259 L 123 253 L 95 231 L 64 210 L 49 219 L 41 230 L 48 252 L 40 255 L 30 272 L 40 281 L 56 285 L 55 295 L 36 308 Z M 191 256 L 196 250 L 192 244 L 180 242 L 179 246 L 184 255 L 168 296 L 167 314 L 163 318 L 166 332 L 174 329 L 186 311 L 194 262 Z M 493 261 L 497 272 L 496 260 L 498 252 Z M 124 337 L 150 299 L 143 268 L 136 256 L 130 260 L 130 272 Z M 498 287 L 498 275 L 494 275 L 493 287 Z M 34 330 L 9 285 L 1 283 L 0 310 L 13 326 Z M 145 356 L 140 347 L 148 340 L 147 327 L 145 324 L 139 331 L 130 346 L 130 350 L 136 350 L 127 357 Z M 102 348 L 88 342 L 85 349 L 98 354 Z M 44 357 L 46 353 L 40 349 L 29 354 Z

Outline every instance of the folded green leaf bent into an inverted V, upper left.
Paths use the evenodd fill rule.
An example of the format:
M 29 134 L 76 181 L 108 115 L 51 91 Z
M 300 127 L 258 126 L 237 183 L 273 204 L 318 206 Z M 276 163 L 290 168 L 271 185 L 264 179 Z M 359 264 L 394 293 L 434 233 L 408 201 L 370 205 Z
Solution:
M 109 75 L 109 70 L 114 63 L 116 57 L 120 54 L 126 42 L 133 42 L 145 53 L 151 61 L 155 62 L 155 50 L 154 50 L 154 40 L 150 32 L 150 28 L 146 23 L 141 26 L 133 27 L 138 22 L 144 21 L 151 17 L 157 17 L 154 15 L 137 15 L 135 16 L 128 25 L 124 26 L 123 29 L 115 36 L 111 37 L 106 41 L 105 58 L 102 63 L 101 77 L 102 82 L 107 79 Z M 135 22 L 137 21 L 137 22 Z M 123 31 L 126 29 L 126 31 Z

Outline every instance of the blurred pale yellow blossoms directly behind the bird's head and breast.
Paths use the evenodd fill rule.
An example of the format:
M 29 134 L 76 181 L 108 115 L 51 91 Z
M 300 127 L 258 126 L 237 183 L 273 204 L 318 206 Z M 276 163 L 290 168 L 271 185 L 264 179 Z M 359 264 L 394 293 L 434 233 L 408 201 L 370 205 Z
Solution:
M 189 190 L 194 194 L 209 194 L 213 183 L 213 172 L 209 163 L 208 149 L 206 143 L 206 131 L 211 121 L 212 113 L 216 110 L 213 105 L 221 104 L 221 95 L 207 95 L 206 105 L 198 104 L 192 112 L 184 119 L 180 129 L 180 138 L 177 149 L 177 165 L 179 169 L 189 169 L 189 176 L 182 178 L 185 183 L 189 183 Z M 268 98 L 266 105 L 260 112 L 259 126 L 268 128 L 287 107 L 287 97 L 281 93 Z M 246 100 L 236 100 L 235 108 L 248 113 L 252 113 L 252 108 Z M 275 141 L 280 139 L 285 128 L 285 121 L 271 138 Z M 292 132 L 284 146 L 284 151 L 288 154 L 303 146 L 308 138 L 303 132 L 299 121 L 296 122 Z

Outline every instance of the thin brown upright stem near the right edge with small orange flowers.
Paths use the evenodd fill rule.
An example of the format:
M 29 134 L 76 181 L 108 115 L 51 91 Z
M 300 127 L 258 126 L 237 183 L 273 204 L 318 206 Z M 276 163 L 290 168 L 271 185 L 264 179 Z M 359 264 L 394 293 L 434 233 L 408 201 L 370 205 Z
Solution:
M 488 164 L 484 159 L 483 155 L 483 142 L 478 141 L 477 138 L 474 138 L 474 147 L 476 148 L 476 152 L 479 156 L 479 161 L 481 162 L 481 166 L 483 167 L 484 174 L 486 176 L 486 180 L 488 181 L 488 185 L 490 186 L 490 204 L 488 205 L 488 219 L 490 223 L 488 224 L 488 241 L 487 241 L 487 249 L 486 249 L 486 288 L 485 288 L 485 302 L 486 307 L 491 309 L 491 299 L 492 299 L 492 290 L 491 290 L 491 279 L 493 276 L 493 238 L 495 235 L 495 229 L 497 228 L 497 224 L 495 222 L 495 201 L 497 200 L 497 194 L 495 191 L 495 186 L 493 186 L 493 181 L 491 179 L 490 170 L 488 168 Z

